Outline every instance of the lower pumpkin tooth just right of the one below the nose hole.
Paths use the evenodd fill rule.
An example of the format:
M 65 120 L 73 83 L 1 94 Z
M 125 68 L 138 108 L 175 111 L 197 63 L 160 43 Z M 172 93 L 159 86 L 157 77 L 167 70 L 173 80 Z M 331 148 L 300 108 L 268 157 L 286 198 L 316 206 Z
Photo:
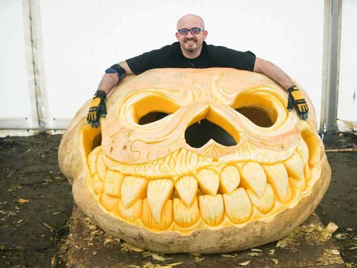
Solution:
M 251 203 L 244 188 L 223 194 L 225 214 L 234 224 L 244 223 L 251 213 Z

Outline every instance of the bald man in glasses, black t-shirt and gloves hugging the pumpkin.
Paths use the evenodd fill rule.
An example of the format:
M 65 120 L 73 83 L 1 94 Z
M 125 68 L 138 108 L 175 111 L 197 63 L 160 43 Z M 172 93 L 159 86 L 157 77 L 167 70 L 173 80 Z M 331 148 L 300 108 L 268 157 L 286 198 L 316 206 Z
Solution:
M 89 113 L 88 123 L 99 126 L 99 115 L 105 116 L 106 96 L 125 75 L 139 75 L 154 68 L 211 68 L 230 67 L 240 70 L 255 71 L 264 74 L 280 84 L 289 92 L 288 107 L 296 108 L 301 119 L 308 118 L 308 105 L 301 91 L 280 68 L 269 61 L 257 58 L 250 51 L 240 52 L 224 46 L 208 45 L 207 30 L 203 19 L 194 14 L 187 14 L 177 21 L 177 42 L 159 50 L 146 52 L 127 59 L 106 69 L 106 74 L 95 92 Z

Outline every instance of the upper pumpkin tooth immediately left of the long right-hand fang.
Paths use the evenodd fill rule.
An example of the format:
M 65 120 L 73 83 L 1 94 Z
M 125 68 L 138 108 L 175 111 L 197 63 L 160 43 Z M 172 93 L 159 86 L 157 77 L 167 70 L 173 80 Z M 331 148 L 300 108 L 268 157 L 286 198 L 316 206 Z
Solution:
M 246 189 L 250 188 L 258 197 L 261 197 L 267 185 L 267 177 L 263 167 L 255 162 L 248 162 L 238 166 L 242 176 L 241 186 Z

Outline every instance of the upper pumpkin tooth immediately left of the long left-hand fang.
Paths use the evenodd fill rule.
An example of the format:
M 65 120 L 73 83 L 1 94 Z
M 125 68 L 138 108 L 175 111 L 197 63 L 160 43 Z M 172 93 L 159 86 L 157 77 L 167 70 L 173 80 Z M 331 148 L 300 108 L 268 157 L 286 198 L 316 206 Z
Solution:
M 148 180 L 142 177 L 126 176 L 121 184 L 121 199 L 123 206 L 129 208 L 138 199 L 146 197 Z

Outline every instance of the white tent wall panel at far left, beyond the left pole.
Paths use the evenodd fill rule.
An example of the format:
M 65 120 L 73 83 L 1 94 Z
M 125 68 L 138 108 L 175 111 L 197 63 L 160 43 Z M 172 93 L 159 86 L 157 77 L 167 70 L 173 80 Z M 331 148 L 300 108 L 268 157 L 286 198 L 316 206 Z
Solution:
M 31 129 L 29 77 L 21 0 L 0 1 L 0 129 Z

